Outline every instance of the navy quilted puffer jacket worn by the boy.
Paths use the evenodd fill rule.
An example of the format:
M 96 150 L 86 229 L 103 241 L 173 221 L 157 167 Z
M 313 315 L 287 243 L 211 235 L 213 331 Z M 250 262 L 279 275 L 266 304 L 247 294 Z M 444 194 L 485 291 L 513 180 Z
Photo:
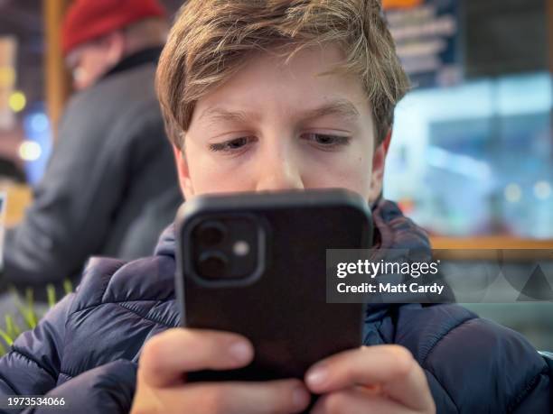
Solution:
M 382 248 L 429 253 L 424 232 L 393 203 L 380 202 L 374 220 Z M 153 257 L 92 259 L 79 288 L 0 360 L 0 395 L 64 397 L 72 407 L 64 412 L 127 412 L 142 346 L 179 325 L 174 270 L 171 227 Z M 370 308 L 364 342 L 406 346 L 425 370 L 440 413 L 551 411 L 544 359 L 516 332 L 459 306 Z

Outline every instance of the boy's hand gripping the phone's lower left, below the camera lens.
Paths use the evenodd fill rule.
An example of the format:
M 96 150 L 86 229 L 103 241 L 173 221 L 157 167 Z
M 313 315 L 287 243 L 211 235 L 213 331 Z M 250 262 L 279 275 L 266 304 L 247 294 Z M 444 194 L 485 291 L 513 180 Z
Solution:
M 295 413 L 309 404 L 299 380 L 186 383 L 185 373 L 247 365 L 253 347 L 243 336 L 174 328 L 154 336 L 138 364 L 131 414 Z

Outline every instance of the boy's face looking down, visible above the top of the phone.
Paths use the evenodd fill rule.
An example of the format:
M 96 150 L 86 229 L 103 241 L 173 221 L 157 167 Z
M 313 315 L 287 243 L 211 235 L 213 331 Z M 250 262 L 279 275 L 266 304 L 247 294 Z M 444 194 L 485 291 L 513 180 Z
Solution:
M 345 188 L 380 194 L 386 145 L 375 149 L 361 80 L 323 75 L 343 59 L 337 46 L 283 58 L 259 53 L 202 97 L 175 148 L 187 199 L 203 193 Z

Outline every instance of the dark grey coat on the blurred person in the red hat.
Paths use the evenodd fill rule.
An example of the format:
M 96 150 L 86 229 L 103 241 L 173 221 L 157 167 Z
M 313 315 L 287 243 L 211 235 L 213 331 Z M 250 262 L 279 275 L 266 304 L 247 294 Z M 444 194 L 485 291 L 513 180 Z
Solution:
M 80 276 L 92 255 L 154 252 L 183 198 L 155 97 L 161 48 L 122 60 L 75 95 L 45 175 L 4 245 L 4 281 L 44 285 Z

